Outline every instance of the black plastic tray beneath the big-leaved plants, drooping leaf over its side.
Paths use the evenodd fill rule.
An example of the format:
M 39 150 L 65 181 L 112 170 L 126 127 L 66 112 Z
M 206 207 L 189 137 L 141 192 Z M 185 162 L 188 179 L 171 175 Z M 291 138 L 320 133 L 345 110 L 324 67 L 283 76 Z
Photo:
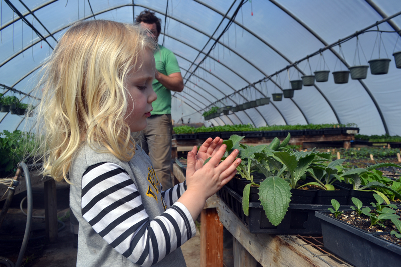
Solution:
M 223 186 L 218 192 L 219 197 L 248 227 L 251 233 L 268 234 L 321 234 L 320 221 L 315 217 L 317 210 L 327 210 L 331 205 L 291 204 L 287 214 L 278 226 L 273 226 L 266 217 L 260 202 L 249 203 L 249 216 L 242 210 L 242 197 Z

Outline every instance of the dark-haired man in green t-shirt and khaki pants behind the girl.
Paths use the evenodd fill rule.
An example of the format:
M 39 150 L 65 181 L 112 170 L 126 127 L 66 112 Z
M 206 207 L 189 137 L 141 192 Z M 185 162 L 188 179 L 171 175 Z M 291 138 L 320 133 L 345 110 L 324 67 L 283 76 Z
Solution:
M 147 28 L 151 36 L 158 41 L 161 32 L 161 19 L 149 10 L 142 11 L 135 19 L 142 27 Z M 182 92 L 184 82 L 175 55 L 159 45 L 154 52 L 156 61 L 153 90 L 157 100 L 152 103 L 153 111 L 147 119 L 147 127 L 142 131 L 142 148 L 152 161 L 153 168 L 163 190 L 172 187 L 171 180 L 171 91 Z

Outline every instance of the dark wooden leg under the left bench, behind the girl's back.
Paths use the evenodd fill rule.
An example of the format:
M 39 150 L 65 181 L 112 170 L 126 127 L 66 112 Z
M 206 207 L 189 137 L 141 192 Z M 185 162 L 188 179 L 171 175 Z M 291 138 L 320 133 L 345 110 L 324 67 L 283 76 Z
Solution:
M 45 228 L 46 238 L 50 243 L 57 241 L 57 198 L 56 181 L 44 182 L 45 187 Z

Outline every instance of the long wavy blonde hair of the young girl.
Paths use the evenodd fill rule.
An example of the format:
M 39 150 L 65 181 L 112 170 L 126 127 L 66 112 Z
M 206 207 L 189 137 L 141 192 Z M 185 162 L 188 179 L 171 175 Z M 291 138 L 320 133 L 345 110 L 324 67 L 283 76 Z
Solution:
M 37 136 L 42 140 L 44 176 L 68 181 L 74 154 L 85 142 L 122 161 L 135 154 L 124 122 L 126 74 L 142 65 L 157 43 L 139 25 L 82 21 L 71 26 L 43 69 Z

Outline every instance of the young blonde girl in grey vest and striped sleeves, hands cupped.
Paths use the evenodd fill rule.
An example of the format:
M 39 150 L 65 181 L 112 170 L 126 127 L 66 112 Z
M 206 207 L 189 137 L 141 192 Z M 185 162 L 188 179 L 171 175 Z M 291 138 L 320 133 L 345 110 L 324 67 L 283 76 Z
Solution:
M 78 266 L 185 266 L 180 246 L 240 163 L 238 150 L 220 162 L 226 146 L 209 138 L 188 153 L 186 181 L 162 192 L 132 137 L 146 127 L 156 100 L 155 49 L 140 26 L 85 21 L 64 34 L 45 65 L 43 175 L 71 184 Z

